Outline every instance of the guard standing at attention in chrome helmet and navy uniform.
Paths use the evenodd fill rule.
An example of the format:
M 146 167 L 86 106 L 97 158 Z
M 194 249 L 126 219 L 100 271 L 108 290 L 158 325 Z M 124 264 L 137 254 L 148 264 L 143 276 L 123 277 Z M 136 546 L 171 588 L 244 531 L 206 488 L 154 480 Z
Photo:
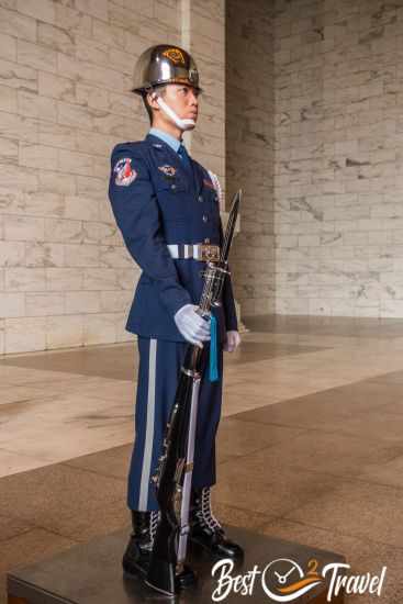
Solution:
M 139 354 L 127 490 L 133 532 L 123 557 L 131 574 L 146 572 L 153 548 L 158 504 L 152 477 L 188 342 L 205 346 L 210 359 L 199 399 L 190 539 L 216 557 L 243 556 L 211 508 L 223 350 L 234 351 L 240 338 L 230 278 L 211 321 L 194 312 L 201 271 L 220 256 L 223 230 L 217 178 L 189 156 L 182 141 L 198 120 L 201 88 L 193 58 L 177 46 L 148 48 L 137 61 L 133 92 L 142 96 L 152 127 L 144 141 L 114 147 L 109 186 L 117 226 L 142 268 L 126 323 L 137 334 Z

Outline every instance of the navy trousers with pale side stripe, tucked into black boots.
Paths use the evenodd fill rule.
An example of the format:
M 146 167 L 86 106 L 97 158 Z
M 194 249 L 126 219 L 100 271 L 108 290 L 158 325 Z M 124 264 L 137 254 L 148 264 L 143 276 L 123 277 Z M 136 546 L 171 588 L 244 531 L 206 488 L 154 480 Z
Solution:
M 130 510 L 156 511 L 158 502 L 152 477 L 163 452 L 166 426 L 175 401 L 184 342 L 137 338 L 139 366 L 135 406 L 135 439 L 128 472 Z M 204 343 L 209 359 L 210 343 Z M 215 483 L 215 434 L 222 401 L 223 347 L 217 344 L 219 381 L 210 382 L 206 365 L 200 384 L 192 485 Z

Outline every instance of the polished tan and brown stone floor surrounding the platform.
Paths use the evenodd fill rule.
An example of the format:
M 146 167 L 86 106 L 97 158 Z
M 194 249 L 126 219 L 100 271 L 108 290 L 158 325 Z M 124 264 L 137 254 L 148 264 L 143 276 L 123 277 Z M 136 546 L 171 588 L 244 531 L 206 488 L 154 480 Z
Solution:
M 403 320 L 245 322 L 225 355 L 216 515 L 343 553 L 351 573 L 387 566 L 378 601 L 403 602 Z M 0 360 L 3 583 L 128 526 L 136 370 L 132 343 Z

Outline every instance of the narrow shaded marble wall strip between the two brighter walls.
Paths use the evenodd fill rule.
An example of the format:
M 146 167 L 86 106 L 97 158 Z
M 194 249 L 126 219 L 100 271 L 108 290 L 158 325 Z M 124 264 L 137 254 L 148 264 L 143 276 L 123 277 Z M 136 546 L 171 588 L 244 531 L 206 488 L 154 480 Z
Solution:
M 275 311 L 271 13 L 267 0 L 226 3 L 226 179 L 230 193 L 244 192 L 231 268 L 243 315 Z

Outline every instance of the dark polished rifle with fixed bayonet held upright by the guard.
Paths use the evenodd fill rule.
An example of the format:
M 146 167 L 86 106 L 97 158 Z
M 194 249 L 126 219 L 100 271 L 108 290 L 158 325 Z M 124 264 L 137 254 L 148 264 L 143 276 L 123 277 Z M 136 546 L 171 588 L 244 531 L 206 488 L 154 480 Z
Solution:
M 208 261 L 204 286 L 198 313 L 211 316 L 212 306 L 221 304 L 224 280 L 230 271 L 228 255 L 238 215 L 242 191 L 235 193 L 228 216 L 220 260 Z M 189 527 L 189 506 L 195 421 L 199 389 L 204 365 L 204 348 L 189 344 L 181 367 L 173 406 L 166 428 L 163 455 L 152 480 L 160 510 L 160 519 L 154 537 L 153 551 L 145 582 L 155 590 L 175 595 L 194 581 L 192 571 L 184 564 Z

